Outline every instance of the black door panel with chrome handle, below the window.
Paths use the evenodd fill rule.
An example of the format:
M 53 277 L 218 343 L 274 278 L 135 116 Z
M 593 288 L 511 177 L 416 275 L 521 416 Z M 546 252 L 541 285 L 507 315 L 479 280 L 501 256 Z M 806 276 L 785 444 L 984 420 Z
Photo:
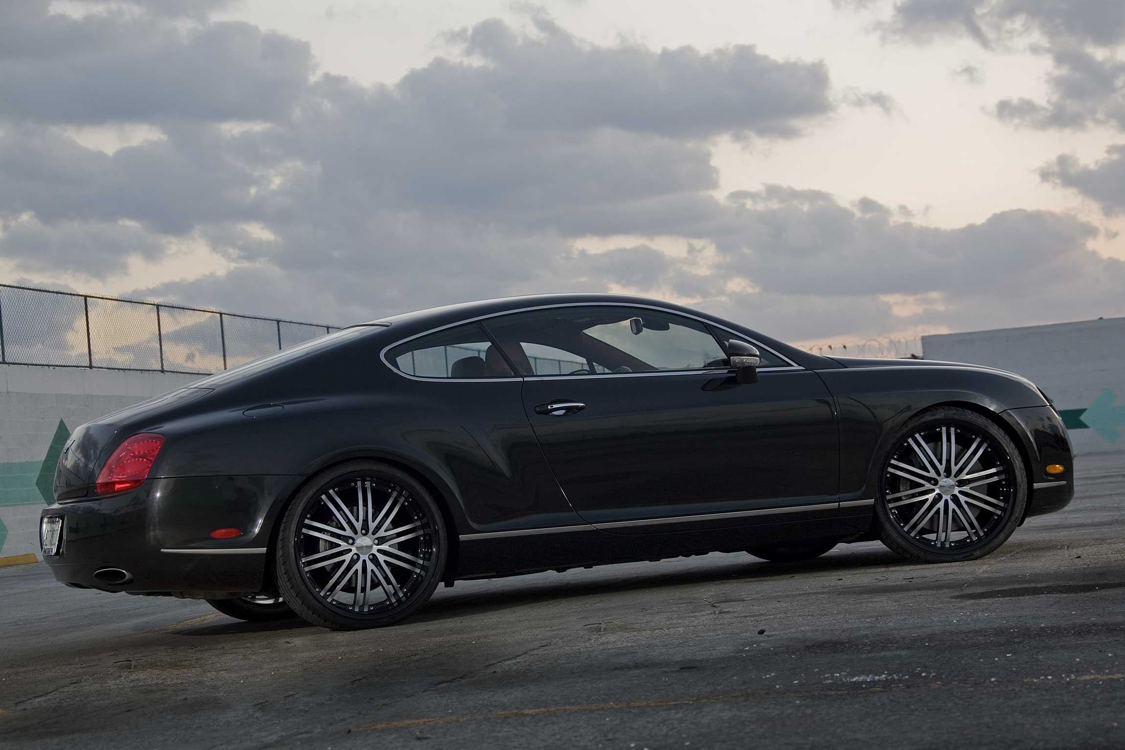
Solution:
M 765 371 L 749 385 L 727 370 L 528 378 L 523 403 L 559 485 L 591 523 L 837 500 L 831 396 L 807 370 Z M 556 404 L 585 406 L 537 413 Z M 729 523 L 763 521 L 776 517 Z

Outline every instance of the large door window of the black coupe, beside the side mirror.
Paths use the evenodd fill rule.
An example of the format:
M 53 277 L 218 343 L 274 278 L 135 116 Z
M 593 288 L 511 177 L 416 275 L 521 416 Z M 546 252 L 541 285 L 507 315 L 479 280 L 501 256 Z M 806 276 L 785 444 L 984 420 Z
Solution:
M 485 322 L 528 376 L 724 368 L 719 342 L 699 320 L 630 307 L 570 307 Z

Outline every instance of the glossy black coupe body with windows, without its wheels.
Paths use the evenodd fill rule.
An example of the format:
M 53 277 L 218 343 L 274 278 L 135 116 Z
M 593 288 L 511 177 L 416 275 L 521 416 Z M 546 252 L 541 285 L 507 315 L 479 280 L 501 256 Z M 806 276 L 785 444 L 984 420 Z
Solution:
M 656 341 L 668 320 L 692 342 L 683 346 L 708 350 L 696 336 L 705 332 L 720 351 L 706 362 L 656 369 L 616 344 L 611 352 L 605 341 L 586 341 L 610 326 L 612 342 L 629 350 L 627 322 L 634 335 L 654 331 Z M 583 329 L 587 323 L 593 327 Z M 513 351 L 518 334 L 528 361 L 497 356 Z M 756 382 L 740 382 L 724 359 L 736 341 L 760 352 Z M 418 360 L 441 350 L 447 359 L 470 353 L 444 370 L 435 365 L 432 377 Z M 586 354 L 560 354 L 558 372 L 548 373 L 550 358 L 526 353 L 555 350 Z M 708 351 L 698 356 L 712 356 Z M 494 365 L 500 370 L 486 370 Z M 556 405 L 566 408 L 548 408 Z M 60 458 L 56 503 L 43 512 L 62 518 L 56 554 L 44 559 L 58 580 L 79 587 L 276 596 L 287 504 L 309 478 L 361 460 L 406 472 L 432 496 L 448 532 L 434 575 L 447 582 L 870 540 L 880 533 L 875 505 L 894 441 L 911 419 L 946 407 L 979 415 L 1010 439 L 1018 469 L 1007 476 L 1011 484 L 1017 471 L 1025 477 L 1015 488 L 1024 499 L 1014 523 L 1071 500 L 1071 450 L 1059 415 L 1010 373 L 820 356 L 637 297 L 454 305 L 345 328 L 82 425 Z M 110 454 L 144 433 L 163 436 L 146 478 L 99 494 Z M 1048 466 L 1062 471 L 1046 473 Z M 936 486 L 925 481 L 925 491 Z M 237 535 L 216 537 L 216 530 Z M 117 572 L 99 575 L 106 570 Z

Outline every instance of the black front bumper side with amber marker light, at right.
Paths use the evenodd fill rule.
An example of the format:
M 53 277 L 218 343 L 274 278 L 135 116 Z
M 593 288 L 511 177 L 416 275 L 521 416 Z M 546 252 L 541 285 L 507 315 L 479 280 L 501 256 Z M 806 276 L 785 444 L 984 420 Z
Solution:
M 1028 480 L 1032 487 L 1024 517 L 1054 513 L 1070 505 L 1074 499 L 1074 455 L 1062 419 L 1048 406 L 1009 409 L 1004 416 L 1020 435 L 1030 460 Z M 1048 475 L 1045 469 L 1052 463 L 1063 466 L 1065 471 Z

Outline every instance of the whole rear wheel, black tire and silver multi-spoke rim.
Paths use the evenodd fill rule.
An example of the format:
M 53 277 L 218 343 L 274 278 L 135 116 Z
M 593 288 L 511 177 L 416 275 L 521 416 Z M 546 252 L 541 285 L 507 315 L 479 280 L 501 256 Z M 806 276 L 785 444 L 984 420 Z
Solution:
M 286 509 L 278 586 L 315 625 L 393 625 L 433 594 L 448 546 L 441 510 L 414 477 L 351 461 L 313 477 Z

